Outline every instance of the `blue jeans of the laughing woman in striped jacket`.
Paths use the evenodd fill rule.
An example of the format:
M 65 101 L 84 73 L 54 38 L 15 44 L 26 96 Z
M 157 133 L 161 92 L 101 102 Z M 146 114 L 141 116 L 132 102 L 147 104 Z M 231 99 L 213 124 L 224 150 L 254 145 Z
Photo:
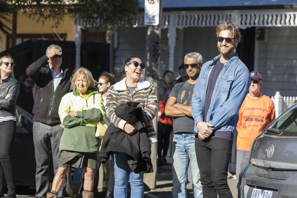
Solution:
M 143 173 L 136 174 L 130 169 L 124 153 L 114 154 L 111 156 L 111 159 L 115 178 L 113 196 L 116 198 L 126 198 L 128 180 L 130 179 L 131 198 L 143 197 Z

